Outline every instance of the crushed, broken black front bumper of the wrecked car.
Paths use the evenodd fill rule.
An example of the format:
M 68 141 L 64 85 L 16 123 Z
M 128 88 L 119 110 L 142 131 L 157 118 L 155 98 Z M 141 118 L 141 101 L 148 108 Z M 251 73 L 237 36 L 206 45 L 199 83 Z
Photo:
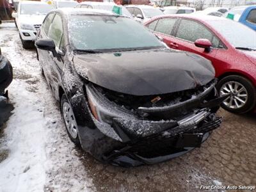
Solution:
M 227 98 L 214 96 L 205 100 L 213 89 L 211 85 L 200 97 L 179 104 L 180 108 L 188 110 L 182 116 L 148 120 L 111 102 L 99 90 L 87 85 L 86 91 L 94 104 L 100 106 L 100 111 L 110 111 L 108 115 L 113 115 L 111 122 L 106 123 L 96 120 L 90 113 L 95 127 L 107 138 L 120 143 L 117 147 L 109 147 L 103 153 L 102 160 L 120 166 L 154 164 L 200 147 L 210 132 L 220 127 L 221 118 L 215 115 L 216 108 Z M 154 115 L 164 111 L 169 113 L 165 114 L 166 117 L 180 111 L 176 107 L 163 108 L 163 111 L 161 108 L 143 110 Z

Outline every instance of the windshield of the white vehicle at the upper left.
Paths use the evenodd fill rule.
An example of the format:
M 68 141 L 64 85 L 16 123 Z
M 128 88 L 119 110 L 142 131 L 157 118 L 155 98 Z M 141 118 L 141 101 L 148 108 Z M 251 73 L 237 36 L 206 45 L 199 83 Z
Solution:
M 20 4 L 20 14 L 22 15 L 46 15 L 52 10 L 49 4 Z

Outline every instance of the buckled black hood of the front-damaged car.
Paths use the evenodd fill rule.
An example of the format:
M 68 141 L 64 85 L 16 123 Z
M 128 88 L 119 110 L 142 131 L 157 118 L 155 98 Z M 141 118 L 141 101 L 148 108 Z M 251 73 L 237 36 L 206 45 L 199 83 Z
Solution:
M 188 90 L 215 76 L 211 61 L 172 49 L 77 54 L 74 66 L 88 81 L 131 95 Z

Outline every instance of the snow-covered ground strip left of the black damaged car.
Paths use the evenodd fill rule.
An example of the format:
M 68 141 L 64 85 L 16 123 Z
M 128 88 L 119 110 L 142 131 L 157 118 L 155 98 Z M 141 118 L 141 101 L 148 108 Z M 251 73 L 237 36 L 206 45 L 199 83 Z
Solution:
M 58 104 L 40 74 L 35 50 L 21 47 L 14 24 L 4 27 L 0 47 L 13 65 L 14 80 L 8 90 L 15 109 L 0 138 L 0 154 L 7 156 L 0 162 L 0 191 L 92 191 Z

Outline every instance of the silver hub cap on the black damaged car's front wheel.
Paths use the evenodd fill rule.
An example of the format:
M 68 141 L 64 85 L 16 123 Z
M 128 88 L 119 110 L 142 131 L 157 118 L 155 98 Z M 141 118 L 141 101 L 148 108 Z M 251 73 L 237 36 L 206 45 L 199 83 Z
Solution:
M 72 138 L 76 139 L 77 138 L 76 118 L 68 102 L 64 102 L 63 104 L 63 118 L 69 134 L 72 136 Z

